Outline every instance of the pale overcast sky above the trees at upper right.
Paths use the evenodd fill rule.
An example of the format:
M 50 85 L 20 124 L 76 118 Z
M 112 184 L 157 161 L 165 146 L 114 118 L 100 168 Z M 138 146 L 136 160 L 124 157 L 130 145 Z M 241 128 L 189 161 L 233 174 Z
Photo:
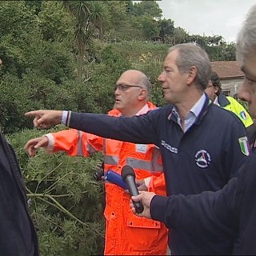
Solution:
M 241 23 L 255 0 L 162 0 L 163 18 L 171 18 L 190 35 L 221 35 L 235 42 Z

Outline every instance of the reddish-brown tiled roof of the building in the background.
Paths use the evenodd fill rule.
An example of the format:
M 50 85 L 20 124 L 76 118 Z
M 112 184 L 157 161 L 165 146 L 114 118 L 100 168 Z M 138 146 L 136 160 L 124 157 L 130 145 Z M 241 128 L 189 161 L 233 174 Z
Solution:
M 243 78 L 244 74 L 240 70 L 238 62 L 210 62 L 212 70 L 214 70 L 218 77 L 222 80 Z

